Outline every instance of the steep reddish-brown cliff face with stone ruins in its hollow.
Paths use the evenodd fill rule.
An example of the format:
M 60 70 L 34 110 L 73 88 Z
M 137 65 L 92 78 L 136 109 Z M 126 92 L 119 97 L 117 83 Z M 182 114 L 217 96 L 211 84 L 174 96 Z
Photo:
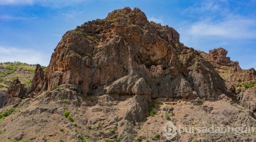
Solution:
M 197 55 L 179 42 L 173 28 L 149 22 L 138 8 L 125 7 L 63 35 L 52 54 L 44 90 L 76 84 L 79 93 L 93 95 L 205 100 L 232 95 L 213 66 Z

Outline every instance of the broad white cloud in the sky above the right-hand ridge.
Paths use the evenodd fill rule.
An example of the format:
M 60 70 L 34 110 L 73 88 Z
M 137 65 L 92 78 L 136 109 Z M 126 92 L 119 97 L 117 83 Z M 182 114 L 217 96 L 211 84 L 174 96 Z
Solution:
M 255 20 L 238 16 L 232 17 L 220 22 L 212 19 L 197 21 L 192 23 L 187 31 L 191 35 L 199 36 L 221 36 L 232 39 L 255 38 L 255 31 L 252 30 L 256 25 Z

